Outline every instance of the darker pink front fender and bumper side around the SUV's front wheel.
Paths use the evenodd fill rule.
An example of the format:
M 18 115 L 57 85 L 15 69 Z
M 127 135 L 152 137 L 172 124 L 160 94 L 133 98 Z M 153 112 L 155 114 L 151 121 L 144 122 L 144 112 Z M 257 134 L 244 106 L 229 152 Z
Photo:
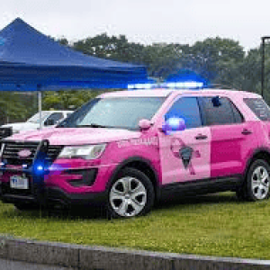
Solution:
M 51 167 L 51 173 L 46 176 L 46 184 L 48 186 L 58 186 L 67 193 L 103 192 L 116 167 L 130 157 L 143 157 L 148 160 L 149 164 L 157 172 L 158 179 L 161 179 L 157 137 L 151 136 L 150 138 L 151 144 L 149 145 L 139 145 L 138 143 L 139 139 L 148 139 L 144 134 L 139 139 L 122 139 L 118 142 L 111 142 L 105 149 L 102 158 L 94 161 L 58 159 Z M 98 168 L 98 174 L 93 185 L 74 187 L 68 184 L 68 180 L 73 179 L 72 176 L 67 175 L 61 167 L 67 169 L 95 167 Z

